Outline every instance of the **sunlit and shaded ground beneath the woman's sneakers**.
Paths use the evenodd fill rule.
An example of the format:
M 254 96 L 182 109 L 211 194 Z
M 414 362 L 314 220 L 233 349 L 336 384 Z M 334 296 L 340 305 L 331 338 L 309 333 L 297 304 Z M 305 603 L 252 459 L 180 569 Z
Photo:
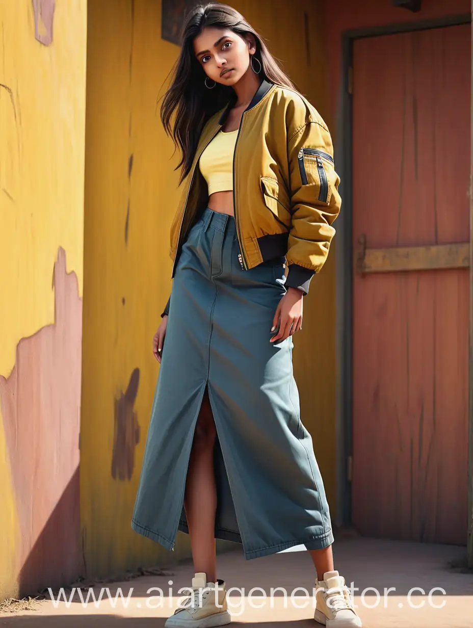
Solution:
M 218 577 L 226 580 L 227 590 L 242 589 L 243 595 L 234 590 L 229 597 L 235 624 L 258 624 L 261 628 L 320 627 L 313 620 L 312 598 L 303 590 L 295 590 L 304 587 L 312 595 L 315 571 L 306 551 L 285 551 L 246 561 L 240 547 L 236 547 L 236 551 L 218 559 Z M 358 588 L 355 602 L 365 628 L 471 628 L 473 573 L 462 572 L 458 566 L 464 556 L 465 548 L 455 546 L 364 538 L 344 538 L 334 543 L 335 568 L 348 586 L 354 582 Z M 88 604 L 85 602 L 84 591 L 84 604 L 76 593 L 71 604 L 61 602 L 55 607 L 45 600 L 36 610 L 0 613 L 0 627 L 163 628 L 180 597 L 178 589 L 188 587 L 192 576 L 192 563 L 182 563 L 165 575 L 113 583 L 109 585 L 110 598 L 104 590 L 102 601 L 96 605 L 90 598 Z M 102 586 L 106 587 L 95 587 L 96 598 Z M 124 599 L 115 602 L 120 587 Z M 158 595 L 156 590 L 148 592 L 152 587 L 163 591 L 161 601 L 153 597 Z M 250 593 L 253 587 L 263 588 L 267 597 L 259 589 Z M 286 597 L 281 590 L 271 597 L 271 587 L 283 587 Z M 420 587 L 424 593 L 413 590 L 414 587 Z M 439 589 L 432 591 L 435 587 L 442 588 L 445 595 Z M 385 588 L 394 590 L 385 596 Z M 379 592 L 379 598 L 374 590 Z M 433 595 L 429 598 L 430 592 Z

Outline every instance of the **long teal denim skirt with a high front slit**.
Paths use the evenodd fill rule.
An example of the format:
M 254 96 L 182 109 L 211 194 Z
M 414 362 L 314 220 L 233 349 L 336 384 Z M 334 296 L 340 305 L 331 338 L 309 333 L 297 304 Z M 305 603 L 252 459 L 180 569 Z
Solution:
M 205 208 L 183 244 L 132 528 L 174 549 L 205 387 L 214 415 L 215 538 L 247 560 L 332 544 L 329 505 L 300 420 L 293 339 L 269 342 L 285 259 L 244 270 L 235 220 Z

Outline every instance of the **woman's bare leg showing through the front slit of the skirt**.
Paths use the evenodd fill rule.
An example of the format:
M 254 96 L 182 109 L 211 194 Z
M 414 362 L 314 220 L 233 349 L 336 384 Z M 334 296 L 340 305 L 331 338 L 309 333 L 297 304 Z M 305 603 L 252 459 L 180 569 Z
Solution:
M 204 571 L 207 582 L 217 580 L 215 558 L 215 509 L 217 490 L 214 476 L 215 423 L 207 390 L 195 426 L 184 495 L 195 573 Z

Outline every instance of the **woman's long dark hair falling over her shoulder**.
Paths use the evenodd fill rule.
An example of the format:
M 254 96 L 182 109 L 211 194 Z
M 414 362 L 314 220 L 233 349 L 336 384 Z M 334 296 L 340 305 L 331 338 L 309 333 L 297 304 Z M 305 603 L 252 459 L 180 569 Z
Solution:
M 295 89 L 290 78 L 281 70 L 278 62 L 268 50 L 261 36 L 246 19 L 231 6 L 220 3 L 199 5 L 185 19 L 181 33 L 182 48 L 177 62 L 171 70 L 171 85 L 166 90 L 161 104 L 161 121 L 166 133 L 173 138 L 175 148 L 182 153 L 175 170 L 182 168 L 179 183 L 189 173 L 197 149 L 198 138 L 205 122 L 234 98 L 235 92 L 229 85 L 217 83 L 212 90 L 205 87 L 207 76 L 195 58 L 193 40 L 205 26 L 228 28 L 237 35 L 251 33 L 256 40 L 256 57 L 261 63 L 261 78 L 271 83 Z M 171 117 L 176 111 L 175 120 Z

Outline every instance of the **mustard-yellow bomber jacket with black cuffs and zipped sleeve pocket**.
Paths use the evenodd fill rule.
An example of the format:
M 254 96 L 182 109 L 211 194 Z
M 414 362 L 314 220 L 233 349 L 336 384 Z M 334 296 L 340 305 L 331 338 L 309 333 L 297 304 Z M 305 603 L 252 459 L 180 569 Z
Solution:
M 171 225 L 174 277 L 188 231 L 207 207 L 207 183 L 198 161 L 224 125 L 231 103 L 200 135 Z M 329 129 L 295 90 L 263 80 L 243 112 L 234 152 L 234 215 L 243 269 L 286 257 L 286 286 L 307 294 L 329 254 L 340 212 L 340 178 Z M 168 302 L 169 303 L 169 302 Z M 163 315 L 168 313 L 166 305 Z

